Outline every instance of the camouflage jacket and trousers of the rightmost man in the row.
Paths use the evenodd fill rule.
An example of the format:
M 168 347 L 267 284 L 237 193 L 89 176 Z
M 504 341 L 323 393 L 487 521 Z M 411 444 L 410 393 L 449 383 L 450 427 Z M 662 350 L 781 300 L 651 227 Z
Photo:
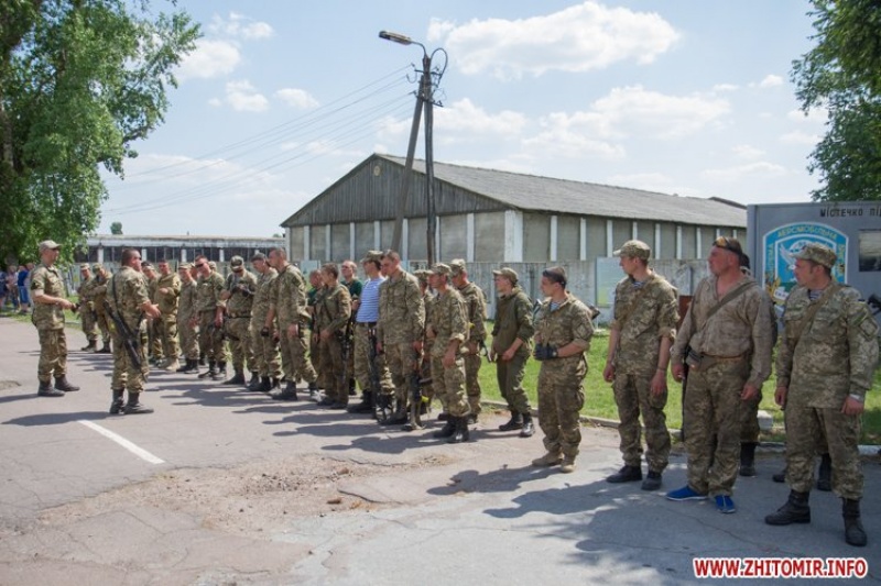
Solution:
M 837 287 L 803 323 L 811 301 L 804 287 L 786 299 L 777 353 L 777 385 L 786 392 L 786 482 L 808 493 L 814 485 L 816 439 L 825 436 L 833 462 L 833 489 L 841 498 L 862 497 L 860 418 L 841 412 L 848 395 L 866 397 L 878 364 L 878 323 L 860 292 Z M 803 330 L 804 331 L 801 331 Z M 801 331 L 801 336 L 796 335 Z

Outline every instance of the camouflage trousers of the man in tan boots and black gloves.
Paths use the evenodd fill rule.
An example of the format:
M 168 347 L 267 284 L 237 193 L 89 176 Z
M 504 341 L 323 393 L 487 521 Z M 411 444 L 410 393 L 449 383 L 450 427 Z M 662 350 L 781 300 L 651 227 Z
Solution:
M 583 355 L 542 362 L 539 371 L 539 427 L 548 452 L 575 457 L 581 443 L 579 414 L 585 405 Z

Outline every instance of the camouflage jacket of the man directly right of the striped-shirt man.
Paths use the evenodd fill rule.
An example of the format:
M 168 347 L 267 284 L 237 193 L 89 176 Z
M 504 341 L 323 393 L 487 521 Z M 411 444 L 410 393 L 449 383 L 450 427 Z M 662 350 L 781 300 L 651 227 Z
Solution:
M 425 335 L 425 305 L 420 281 L 405 270 L 387 278 L 379 288 L 377 338 L 382 344 L 418 342 Z

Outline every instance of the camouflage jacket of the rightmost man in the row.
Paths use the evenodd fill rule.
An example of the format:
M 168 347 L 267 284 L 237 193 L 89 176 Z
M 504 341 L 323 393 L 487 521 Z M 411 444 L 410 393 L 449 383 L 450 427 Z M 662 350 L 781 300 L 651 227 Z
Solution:
M 804 287 L 786 299 L 777 352 L 777 385 L 787 405 L 840 408 L 849 394 L 866 396 L 878 365 L 878 322 L 853 287 L 838 286 L 809 324 Z M 801 336 L 800 336 L 801 332 Z

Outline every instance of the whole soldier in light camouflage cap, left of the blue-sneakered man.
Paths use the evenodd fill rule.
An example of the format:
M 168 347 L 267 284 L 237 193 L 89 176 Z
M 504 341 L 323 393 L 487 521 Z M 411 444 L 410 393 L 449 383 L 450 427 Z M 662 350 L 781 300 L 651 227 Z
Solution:
M 664 407 L 667 402 L 670 349 L 679 321 L 676 289 L 649 268 L 652 250 L 644 242 L 628 241 L 612 254 L 621 258 L 621 269 L 627 277 L 614 288 L 614 316 L 602 377 L 612 383 L 621 421 L 618 434 L 624 466 L 606 482 L 642 480 L 642 413 L 648 446 L 645 462 L 649 465 L 642 489 L 657 490 L 670 461 L 670 432 Z

